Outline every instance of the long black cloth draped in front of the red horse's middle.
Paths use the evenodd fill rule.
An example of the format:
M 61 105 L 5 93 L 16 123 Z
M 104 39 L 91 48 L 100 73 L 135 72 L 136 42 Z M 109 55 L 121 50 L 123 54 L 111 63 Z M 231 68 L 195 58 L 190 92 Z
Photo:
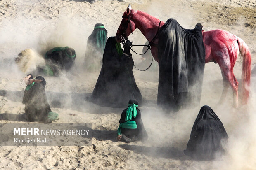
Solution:
M 158 58 L 158 105 L 199 105 L 205 63 L 201 27 L 188 30 L 168 19 L 159 30 Z

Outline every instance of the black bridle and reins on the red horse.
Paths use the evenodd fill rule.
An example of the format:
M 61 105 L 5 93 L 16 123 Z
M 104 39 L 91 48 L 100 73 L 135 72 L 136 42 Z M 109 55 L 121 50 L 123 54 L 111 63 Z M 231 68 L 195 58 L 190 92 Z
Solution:
M 122 42 L 122 44 L 123 44 L 123 47 L 124 47 L 125 42 L 128 40 L 128 37 L 125 36 L 125 31 L 126 31 L 126 29 L 128 28 L 128 24 L 130 23 L 130 13 L 131 13 L 131 12 L 129 12 L 129 15 L 128 15 L 128 16 L 124 16 L 124 15 L 122 16 L 122 18 L 126 18 L 126 19 L 127 19 L 125 29 L 122 30 L 120 27 L 118 28 L 118 30 L 121 31 L 121 42 Z M 145 45 L 145 44 L 144 44 L 144 45 L 133 45 L 133 44 L 132 44 L 131 47 L 133 47 L 133 46 L 147 46 L 147 50 L 146 50 L 144 53 L 142 53 L 142 54 L 136 53 L 136 52 L 131 48 L 131 50 L 132 50 L 135 54 L 143 55 L 143 54 L 145 54 L 149 49 L 151 50 L 151 46 L 154 44 L 153 42 L 154 42 L 154 40 L 156 39 L 156 37 L 157 37 L 157 35 L 158 35 L 159 28 L 160 28 L 160 24 L 161 24 L 161 21 L 159 22 L 159 26 L 158 26 L 156 35 L 155 35 L 155 36 L 153 37 L 153 39 L 149 42 L 148 45 Z M 130 31 L 131 31 L 131 33 L 133 34 L 133 30 L 132 30 L 132 25 L 131 25 L 131 24 L 130 24 Z M 154 45 L 156 45 L 156 44 L 154 44 Z M 150 66 L 152 65 L 152 63 L 153 63 L 153 58 L 154 58 L 154 57 L 152 57 L 152 61 L 151 61 L 150 65 L 149 65 L 149 67 L 148 67 L 147 69 L 149 69 Z M 135 65 L 134 65 L 134 66 L 135 66 Z M 135 66 L 135 68 L 137 68 L 137 67 Z M 138 68 L 137 68 L 137 69 L 138 69 Z M 147 69 L 145 69 L 145 70 L 140 70 L 140 69 L 138 69 L 138 70 L 140 70 L 140 71 L 146 71 Z

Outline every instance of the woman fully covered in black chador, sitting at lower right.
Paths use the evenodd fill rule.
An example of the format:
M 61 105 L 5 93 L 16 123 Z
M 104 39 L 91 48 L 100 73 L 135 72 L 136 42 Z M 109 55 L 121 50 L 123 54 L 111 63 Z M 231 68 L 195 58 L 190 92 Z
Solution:
M 199 160 L 214 158 L 216 152 L 224 151 L 221 140 L 228 134 L 211 107 L 203 106 L 191 130 L 190 140 L 184 154 Z

